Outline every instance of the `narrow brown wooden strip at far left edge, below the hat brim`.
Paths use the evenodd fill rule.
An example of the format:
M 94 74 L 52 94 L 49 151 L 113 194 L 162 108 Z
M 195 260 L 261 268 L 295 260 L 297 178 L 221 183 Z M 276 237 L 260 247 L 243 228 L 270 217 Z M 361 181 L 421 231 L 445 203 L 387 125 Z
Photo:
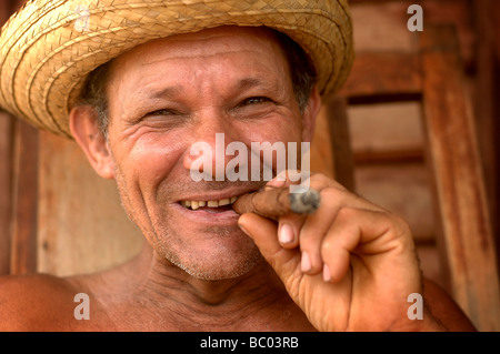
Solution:
M 10 273 L 12 118 L 0 112 L 0 274 Z

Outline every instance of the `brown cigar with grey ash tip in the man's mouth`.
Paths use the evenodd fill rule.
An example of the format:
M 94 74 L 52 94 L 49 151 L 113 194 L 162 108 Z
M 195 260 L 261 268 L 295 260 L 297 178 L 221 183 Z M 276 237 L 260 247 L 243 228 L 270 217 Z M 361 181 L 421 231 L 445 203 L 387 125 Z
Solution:
M 256 213 L 264 218 L 288 214 L 310 214 L 320 205 L 320 193 L 309 189 L 302 193 L 290 193 L 288 186 L 272 188 L 238 196 L 232 209 L 238 214 Z

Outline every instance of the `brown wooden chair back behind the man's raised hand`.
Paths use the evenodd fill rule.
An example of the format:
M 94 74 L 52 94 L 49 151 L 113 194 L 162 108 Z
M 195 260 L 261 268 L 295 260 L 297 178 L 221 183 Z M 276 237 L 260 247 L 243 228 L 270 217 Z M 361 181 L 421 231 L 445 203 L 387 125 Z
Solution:
M 500 330 L 494 237 L 474 120 L 452 26 L 427 27 L 416 53 L 359 53 L 328 104 L 336 178 L 354 188 L 347 105 L 419 101 L 448 290 L 481 331 Z

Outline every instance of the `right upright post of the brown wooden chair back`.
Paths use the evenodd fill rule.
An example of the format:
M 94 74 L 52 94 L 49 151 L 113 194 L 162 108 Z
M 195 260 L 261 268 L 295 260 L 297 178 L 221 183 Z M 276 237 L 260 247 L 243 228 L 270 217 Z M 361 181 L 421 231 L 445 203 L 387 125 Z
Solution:
M 428 27 L 421 47 L 424 121 L 451 291 L 479 330 L 499 331 L 493 235 L 454 29 Z

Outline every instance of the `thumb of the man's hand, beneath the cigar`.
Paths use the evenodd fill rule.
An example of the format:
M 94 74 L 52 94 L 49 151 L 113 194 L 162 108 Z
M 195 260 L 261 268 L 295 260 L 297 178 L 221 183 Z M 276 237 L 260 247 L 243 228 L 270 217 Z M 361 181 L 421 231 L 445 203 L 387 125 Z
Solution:
M 238 220 L 238 225 L 253 240 L 264 260 L 283 282 L 300 266 L 300 253 L 280 245 L 276 222 L 253 213 L 244 213 Z

